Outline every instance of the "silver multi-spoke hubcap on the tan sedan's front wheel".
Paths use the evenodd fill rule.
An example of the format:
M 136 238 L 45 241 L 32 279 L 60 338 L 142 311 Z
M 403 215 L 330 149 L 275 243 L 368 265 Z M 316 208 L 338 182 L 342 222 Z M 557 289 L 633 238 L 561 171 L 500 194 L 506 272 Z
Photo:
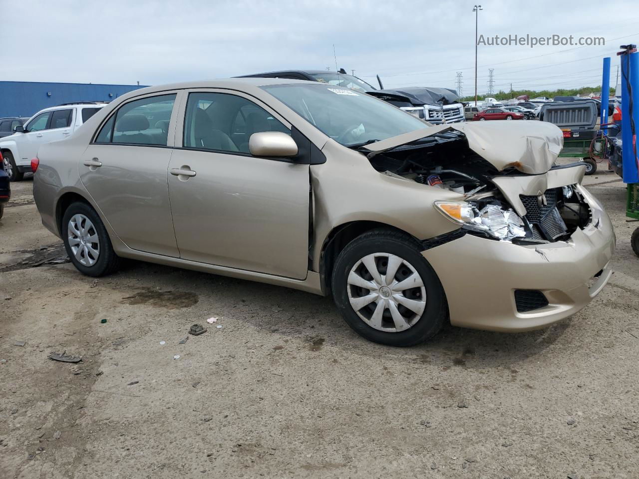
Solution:
M 404 331 L 426 310 L 424 281 L 410 262 L 389 253 L 364 256 L 348 273 L 348 300 L 364 323 Z

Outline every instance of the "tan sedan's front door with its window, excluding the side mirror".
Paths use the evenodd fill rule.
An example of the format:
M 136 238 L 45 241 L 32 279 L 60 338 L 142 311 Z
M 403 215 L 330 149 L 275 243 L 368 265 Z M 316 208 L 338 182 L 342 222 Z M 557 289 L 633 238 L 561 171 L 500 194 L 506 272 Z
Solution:
M 180 257 L 305 278 L 309 165 L 249 153 L 252 133 L 290 125 L 236 92 L 192 91 L 179 116 L 169 197 Z

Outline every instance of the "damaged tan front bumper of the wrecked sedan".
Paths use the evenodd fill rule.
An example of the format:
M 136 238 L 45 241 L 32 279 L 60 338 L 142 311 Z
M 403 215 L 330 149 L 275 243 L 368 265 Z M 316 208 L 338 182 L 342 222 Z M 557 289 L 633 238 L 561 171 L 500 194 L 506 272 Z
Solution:
M 422 252 L 442 282 L 451 324 L 534 330 L 575 314 L 601 292 L 612 275 L 615 234 L 601 204 L 578 188 L 592 218 L 568 241 L 524 246 L 466 234 Z

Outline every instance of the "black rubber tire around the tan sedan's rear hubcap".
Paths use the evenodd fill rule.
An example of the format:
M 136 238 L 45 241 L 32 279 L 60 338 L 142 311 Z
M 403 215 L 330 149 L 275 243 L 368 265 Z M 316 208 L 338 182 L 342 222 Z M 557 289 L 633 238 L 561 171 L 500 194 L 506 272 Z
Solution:
M 71 218 L 74 215 L 78 214 L 84 215 L 91 221 L 91 223 L 93 223 L 93 228 L 95 229 L 95 233 L 98 236 L 98 241 L 100 242 L 100 250 L 97 261 L 91 266 L 82 264 L 75 257 L 75 254 L 73 254 L 72 247 L 69 244 L 68 225 Z M 114 252 L 109 234 L 107 234 L 107 230 L 104 227 L 102 220 L 98 216 L 98 213 L 96 213 L 95 209 L 91 208 L 89 204 L 80 201 L 70 204 L 70 206 L 66 208 L 65 214 L 63 215 L 60 232 L 62 234 L 63 241 L 65 242 L 66 254 L 69 255 L 73 266 L 75 266 L 75 268 L 77 268 L 77 270 L 80 271 L 83 275 L 92 277 L 105 276 L 113 273 L 120 267 L 122 260 Z

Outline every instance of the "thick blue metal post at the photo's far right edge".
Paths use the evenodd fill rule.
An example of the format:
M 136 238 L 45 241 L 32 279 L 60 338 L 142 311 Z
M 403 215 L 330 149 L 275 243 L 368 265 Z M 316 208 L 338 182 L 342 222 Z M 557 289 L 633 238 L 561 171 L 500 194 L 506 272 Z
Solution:
M 624 183 L 639 183 L 637 157 L 635 155 L 636 135 L 631 122 L 639 126 L 639 53 L 620 56 L 621 59 L 621 135 L 623 141 Z M 633 111 L 630 111 L 632 93 Z M 632 113 L 632 118 L 631 118 Z

